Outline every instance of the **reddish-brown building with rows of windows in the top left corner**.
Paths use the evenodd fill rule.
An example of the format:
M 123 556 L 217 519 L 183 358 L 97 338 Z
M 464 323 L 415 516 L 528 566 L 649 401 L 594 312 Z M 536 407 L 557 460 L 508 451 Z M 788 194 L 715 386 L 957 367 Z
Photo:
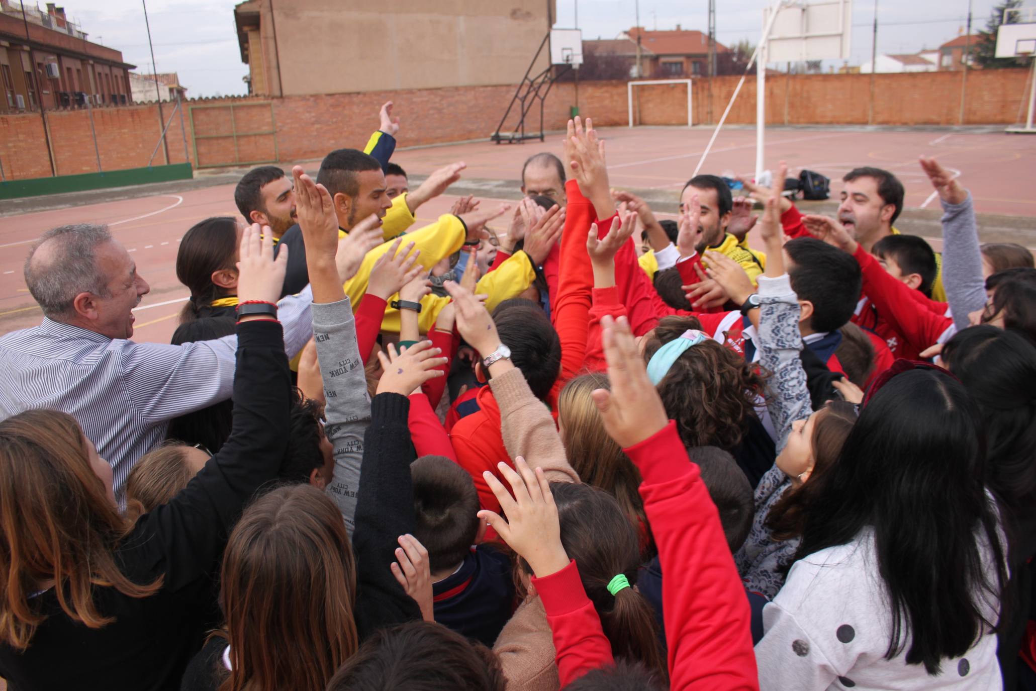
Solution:
M 26 3 L 28 5 L 28 3 Z M 28 34 L 28 36 L 26 35 Z M 133 103 L 120 51 L 87 40 L 64 8 L 0 0 L 0 113 Z

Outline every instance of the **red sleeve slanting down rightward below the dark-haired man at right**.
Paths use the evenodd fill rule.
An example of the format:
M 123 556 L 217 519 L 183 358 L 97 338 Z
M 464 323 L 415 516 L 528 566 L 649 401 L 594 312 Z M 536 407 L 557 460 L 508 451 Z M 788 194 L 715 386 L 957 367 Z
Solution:
M 853 256 L 863 271 L 863 294 L 874 304 L 881 318 L 906 339 L 906 343 L 917 350 L 924 350 L 951 333 L 951 317 L 938 315 L 914 299 L 911 293 L 917 291 L 889 276 L 862 244 L 857 247 Z

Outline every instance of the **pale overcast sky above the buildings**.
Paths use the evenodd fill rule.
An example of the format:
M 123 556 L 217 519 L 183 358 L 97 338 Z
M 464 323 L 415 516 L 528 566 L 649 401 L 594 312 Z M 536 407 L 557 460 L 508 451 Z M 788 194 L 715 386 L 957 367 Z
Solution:
M 506 0 L 490 2 L 506 4 Z M 914 53 L 938 47 L 960 35 L 968 17 L 968 0 L 877 2 L 879 53 Z M 972 2 L 973 27 L 978 30 L 985 26 L 995 0 Z M 576 3 L 583 38 L 613 38 L 635 25 L 634 0 L 557 0 L 556 27 L 574 25 Z M 65 0 L 62 4 L 68 16 L 82 23 L 90 40 L 122 51 L 138 71 L 150 71 L 140 0 Z M 246 92 L 241 78 L 248 74 L 248 65 L 241 62 L 237 47 L 234 4 L 234 0 L 147 0 L 157 70 L 178 73 L 189 96 Z M 717 39 L 721 44 L 733 45 L 741 38 L 754 44 L 758 39 L 766 0 L 718 0 L 716 4 Z M 648 29 L 672 29 L 679 23 L 685 29 L 706 31 L 707 6 L 706 0 L 640 0 L 640 24 Z M 873 17 L 873 0 L 854 2 L 852 64 L 870 58 Z M 516 82 L 520 76 L 516 73 Z

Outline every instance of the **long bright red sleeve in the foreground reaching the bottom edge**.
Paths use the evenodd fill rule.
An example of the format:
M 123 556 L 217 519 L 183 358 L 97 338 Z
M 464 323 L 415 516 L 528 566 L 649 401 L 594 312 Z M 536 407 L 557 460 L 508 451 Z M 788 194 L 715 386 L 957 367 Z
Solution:
M 665 574 L 669 688 L 758 689 L 745 587 L 675 424 L 625 451 L 643 478 L 640 496 Z

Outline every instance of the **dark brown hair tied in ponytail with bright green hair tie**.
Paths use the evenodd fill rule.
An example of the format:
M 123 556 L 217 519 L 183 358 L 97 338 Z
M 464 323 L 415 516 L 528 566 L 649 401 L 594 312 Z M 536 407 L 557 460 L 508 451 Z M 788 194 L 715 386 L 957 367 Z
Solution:
M 642 662 L 667 679 L 655 611 L 632 587 L 640 568 L 637 526 L 615 498 L 600 489 L 584 484 L 551 483 L 550 490 L 557 505 L 562 545 L 575 559 L 583 588 L 601 617 L 613 655 Z M 612 584 L 620 575 L 626 577 L 630 586 Z

